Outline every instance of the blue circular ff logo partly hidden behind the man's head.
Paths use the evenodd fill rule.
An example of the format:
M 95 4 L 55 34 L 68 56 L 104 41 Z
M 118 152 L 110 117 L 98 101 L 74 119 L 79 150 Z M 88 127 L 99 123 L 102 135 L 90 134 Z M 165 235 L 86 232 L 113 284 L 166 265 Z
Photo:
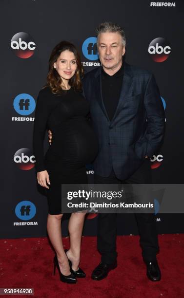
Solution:
M 89 60 L 98 60 L 97 37 L 88 37 L 82 44 L 83 56 Z

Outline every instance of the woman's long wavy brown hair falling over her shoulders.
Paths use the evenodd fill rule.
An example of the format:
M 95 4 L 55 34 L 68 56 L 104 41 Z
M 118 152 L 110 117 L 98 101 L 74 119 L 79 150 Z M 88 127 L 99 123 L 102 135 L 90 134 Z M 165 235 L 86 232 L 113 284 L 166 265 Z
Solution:
M 72 43 L 70 43 L 68 41 L 61 41 L 52 50 L 52 53 L 51 53 L 51 56 L 49 59 L 49 71 L 48 71 L 48 75 L 47 75 L 46 86 L 49 86 L 52 90 L 52 93 L 55 93 L 55 94 L 61 93 L 61 91 L 62 91 L 62 88 L 61 88 L 62 78 L 58 74 L 57 70 L 54 68 L 54 62 L 56 62 L 58 57 L 60 56 L 60 54 L 66 50 L 74 53 L 74 56 L 75 56 L 76 62 L 77 62 L 77 69 L 76 69 L 75 75 L 73 75 L 69 79 L 69 85 L 71 87 L 74 87 L 75 90 L 79 90 L 79 91 L 82 90 L 81 78 L 84 74 L 84 71 L 83 71 L 82 62 L 81 62 L 79 52 L 78 52 L 77 48 Z

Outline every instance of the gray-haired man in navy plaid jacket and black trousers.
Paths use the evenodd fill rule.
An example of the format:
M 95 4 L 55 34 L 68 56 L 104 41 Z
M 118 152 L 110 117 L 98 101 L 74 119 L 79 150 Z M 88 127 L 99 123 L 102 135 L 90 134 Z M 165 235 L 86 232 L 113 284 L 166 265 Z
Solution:
M 83 90 L 90 103 L 99 153 L 94 161 L 96 184 L 151 184 L 150 157 L 164 137 L 164 108 L 155 78 L 124 60 L 125 35 L 120 25 L 105 22 L 97 29 L 102 67 L 88 72 Z M 135 214 L 147 277 L 161 279 L 154 214 Z M 100 280 L 117 266 L 116 214 L 98 215 L 98 250 L 102 255 L 92 279 Z

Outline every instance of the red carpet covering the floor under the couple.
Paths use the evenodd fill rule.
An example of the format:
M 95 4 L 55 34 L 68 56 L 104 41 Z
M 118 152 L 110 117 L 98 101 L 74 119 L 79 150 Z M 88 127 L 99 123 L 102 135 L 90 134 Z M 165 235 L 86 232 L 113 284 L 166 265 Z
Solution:
M 47 238 L 0 240 L 0 287 L 31 287 L 39 298 L 184 297 L 184 234 L 159 235 L 159 241 L 161 281 L 147 279 L 138 236 L 118 237 L 118 267 L 95 281 L 90 275 L 100 261 L 96 237 L 83 237 L 81 267 L 87 277 L 69 285 L 58 272 L 53 276 L 54 253 Z M 68 248 L 68 238 L 63 243 Z

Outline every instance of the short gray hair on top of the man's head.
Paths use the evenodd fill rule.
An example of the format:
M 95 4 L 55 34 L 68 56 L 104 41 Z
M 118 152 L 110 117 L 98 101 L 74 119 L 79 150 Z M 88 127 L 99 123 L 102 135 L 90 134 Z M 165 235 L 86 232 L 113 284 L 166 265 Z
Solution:
M 121 35 L 122 37 L 122 43 L 123 46 L 125 47 L 126 45 L 126 38 L 125 38 L 125 33 L 122 29 L 122 27 L 119 24 L 115 24 L 112 22 L 104 22 L 101 23 L 98 28 L 96 29 L 96 33 L 97 33 L 97 44 L 98 44 L 98 37 L 101 33 L 105 33 L 105 32 L 117 32 Z

